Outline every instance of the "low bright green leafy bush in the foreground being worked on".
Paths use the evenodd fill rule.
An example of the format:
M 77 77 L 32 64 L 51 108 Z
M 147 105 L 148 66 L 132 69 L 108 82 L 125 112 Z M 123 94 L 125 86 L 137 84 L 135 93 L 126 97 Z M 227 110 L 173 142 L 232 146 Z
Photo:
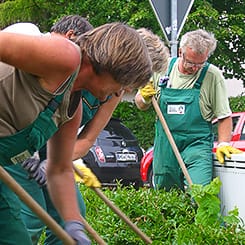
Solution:
M 205 190 L 196 187 L 194 195 L 200 197 L 203 193 L 211 193 L 215 198 L 217 188 L 216 180 Z M 80 189 L 87 205 L 87 221 L 106 243 L 144 244 L 92 190 L 84 186 Z M 140 188 L 137 191 L 133 187 L 119 186 L 117 189 L 105 188 L 103 192 L 152 239 L 153 244 L 243 244 L 245 241 L 245 230 L 235 212 L 226 217 L 229 222 L 220 223 L 220 210 L 212 206 L 213 199 L 206 196 L 197 206 L 190 194 L 180 190 L 166 192 Z M 204 203 L 210 206 L 207 212 L 203 212 L 207 207 Z M 213 219 L 209 220 L 210 213 Z

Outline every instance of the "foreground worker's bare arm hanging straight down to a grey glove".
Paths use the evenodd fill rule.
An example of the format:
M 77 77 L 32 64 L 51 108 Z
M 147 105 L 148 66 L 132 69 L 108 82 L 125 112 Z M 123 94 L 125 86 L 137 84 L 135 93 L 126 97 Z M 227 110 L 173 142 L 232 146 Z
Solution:
M 72 169 L 72 152 L 80 121 L 81 107 L 75 118 L 64 124 L 48 142 L 47 185 L 50 197 L 65 221 L 81 221 Z

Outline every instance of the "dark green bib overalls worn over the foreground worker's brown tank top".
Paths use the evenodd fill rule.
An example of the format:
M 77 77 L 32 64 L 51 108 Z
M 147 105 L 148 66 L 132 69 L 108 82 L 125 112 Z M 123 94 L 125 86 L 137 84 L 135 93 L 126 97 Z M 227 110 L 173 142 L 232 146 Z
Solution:
M 69 78 L 67 88 L 70 87 L 76 75 L 77 73 L 74 73 Z M 32 156 L 33 153 L 45 145 L 48 139 L 58 130 L 52 116 L 61 103 L 65 92 L 66 90 L 51 99 L 46 109 L 42 111 L 36 120 L 28 127 L 14 135 L 0 138 L 0 164 L 4 166 L 11 175 L 12 172 L 16 174 L 14 177 L 17 181 L 18 169 L 22 170 L 19 163 Z M 28 179 L 27 181 L 30 182 Z M 33 184 L 34 189 L 38 187 L 35 181 L 30 182 L 30 184 Z M 39 204 L 43 204 L 44 199 L 39 198 L 39 200 L 37 200 L 38 198 L 35 198 L 35 193 L 29 192 L 29 194 L 39 202 Z M 21 202 L 1 180 L 0 217 L 0 244 L 32 244 L 30 234 L 21 216 Z

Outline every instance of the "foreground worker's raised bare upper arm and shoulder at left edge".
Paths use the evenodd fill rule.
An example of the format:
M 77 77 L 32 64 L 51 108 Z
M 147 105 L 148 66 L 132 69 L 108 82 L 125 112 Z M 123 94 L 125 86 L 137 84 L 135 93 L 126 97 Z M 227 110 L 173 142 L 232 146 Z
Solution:
M 0 31 L 0 61 L 37 75 L 53 90 L 53 84 L 59 85 L 78 67 L 80 53 L 63 37 Z

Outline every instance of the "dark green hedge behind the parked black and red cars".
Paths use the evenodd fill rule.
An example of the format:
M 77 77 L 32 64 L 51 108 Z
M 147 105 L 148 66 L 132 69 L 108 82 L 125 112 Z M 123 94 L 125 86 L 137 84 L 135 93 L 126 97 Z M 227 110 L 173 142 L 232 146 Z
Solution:
M 230 106 L 233 112 L 245 111 L 245 96 L 231 97 Z M 151 106 L 147 111 L 140 111 L 133 102 L 121 102 L 113 113 L 132 130 L 145 150 L 153 145 L 154 122 L 156 113 Z

